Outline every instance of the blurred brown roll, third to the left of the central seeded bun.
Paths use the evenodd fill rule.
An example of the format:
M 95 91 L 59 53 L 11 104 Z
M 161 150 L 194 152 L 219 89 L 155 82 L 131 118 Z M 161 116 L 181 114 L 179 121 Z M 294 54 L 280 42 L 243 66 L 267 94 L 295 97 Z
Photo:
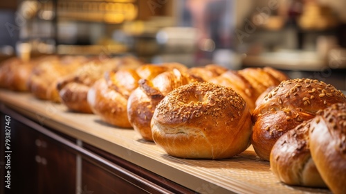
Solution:
M 95 59 L 87 62 L 74 73 L 58 81 L 57 89 L 60 99 L 72 111 L 92 113 L 86 100 L 90 87 L 102 78 L 106 71 L 117 71 L 124 68 L 136 69 L 139 66 L 140 62 L 126 58 Z

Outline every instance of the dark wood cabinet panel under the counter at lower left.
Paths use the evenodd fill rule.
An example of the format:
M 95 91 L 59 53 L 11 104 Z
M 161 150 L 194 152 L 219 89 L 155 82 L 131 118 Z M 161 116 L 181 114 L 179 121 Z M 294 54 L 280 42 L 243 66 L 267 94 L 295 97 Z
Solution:
M 10 129 L 11 188 L 4 193 L 75 193 L 75 154 L 13 117 Z

